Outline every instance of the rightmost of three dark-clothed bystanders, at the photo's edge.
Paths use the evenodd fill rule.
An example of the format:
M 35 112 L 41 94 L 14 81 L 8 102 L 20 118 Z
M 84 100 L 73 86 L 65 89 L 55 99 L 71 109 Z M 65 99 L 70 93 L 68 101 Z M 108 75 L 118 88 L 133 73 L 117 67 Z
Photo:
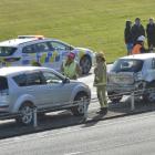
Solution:
M 153 48 L 155 46 L 155 23 L 153 18 L 149 18 L 148 23 L 146 25 L 146 34 L 148 50 L 153 51 Z

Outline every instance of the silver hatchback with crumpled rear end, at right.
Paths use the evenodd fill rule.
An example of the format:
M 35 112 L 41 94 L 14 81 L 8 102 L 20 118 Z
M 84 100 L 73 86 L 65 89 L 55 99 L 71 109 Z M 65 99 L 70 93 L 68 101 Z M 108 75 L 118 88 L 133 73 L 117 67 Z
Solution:
M 113 102 L 132 92 L 145 101 L 155 101 L 155 53 L 120 58 L 107 79 L 107 94 Z

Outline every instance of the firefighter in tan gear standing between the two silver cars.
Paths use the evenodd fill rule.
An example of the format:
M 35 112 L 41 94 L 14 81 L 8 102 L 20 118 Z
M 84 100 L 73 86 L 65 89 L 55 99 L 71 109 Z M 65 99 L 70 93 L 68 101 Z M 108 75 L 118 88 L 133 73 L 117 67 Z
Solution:
M 97 99 L 101 105 L 100 113 L 107 113 L 106 100 L 106 62 L 103 52 L 96 54 L 96 66 L 94 69 L 94 86 L 96 86 Z

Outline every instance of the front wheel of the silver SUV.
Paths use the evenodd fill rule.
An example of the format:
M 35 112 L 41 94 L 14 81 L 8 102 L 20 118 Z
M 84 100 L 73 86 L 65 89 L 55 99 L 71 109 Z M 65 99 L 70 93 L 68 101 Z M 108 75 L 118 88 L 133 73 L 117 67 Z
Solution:
M 86 107 L 84 107 L 84 104 L 82 104 L 82 102 L 85 102 Z M 73 104 L 79 104 L 75 105 L 71 108 L 71 112 L 74 116 L 83 116 L 85 113 L 85 108 L 87 111 L 87 106 L 89 106 L 90 100 L 89 96 L 85 92 L 79 93 L 75 99 L 74 99 L 74 103 Z

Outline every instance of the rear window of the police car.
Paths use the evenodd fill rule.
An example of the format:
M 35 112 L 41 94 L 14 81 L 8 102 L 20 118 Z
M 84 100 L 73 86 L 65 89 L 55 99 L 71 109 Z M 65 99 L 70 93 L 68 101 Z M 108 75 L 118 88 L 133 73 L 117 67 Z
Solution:
M 10 56 L 16 52 L 17 48 L 13 46 L 0 46 L 0 56 Z

